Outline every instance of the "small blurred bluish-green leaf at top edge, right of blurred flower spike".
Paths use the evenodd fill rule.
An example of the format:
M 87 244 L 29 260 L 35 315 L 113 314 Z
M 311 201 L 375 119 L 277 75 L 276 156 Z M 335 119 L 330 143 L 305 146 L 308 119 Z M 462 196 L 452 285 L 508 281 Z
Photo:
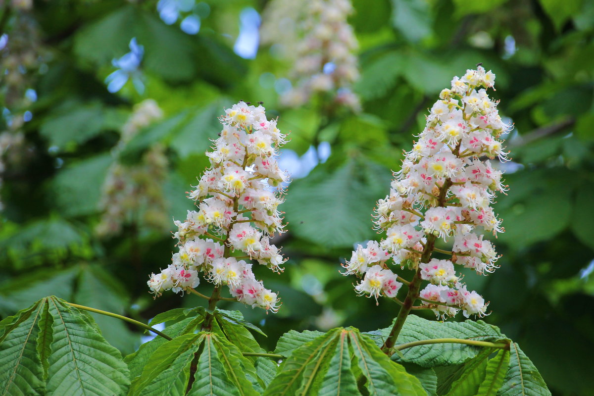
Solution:
M 392 24 L 409 42 L 431 34 L 431 12 L 424 0 L 392 0 Z

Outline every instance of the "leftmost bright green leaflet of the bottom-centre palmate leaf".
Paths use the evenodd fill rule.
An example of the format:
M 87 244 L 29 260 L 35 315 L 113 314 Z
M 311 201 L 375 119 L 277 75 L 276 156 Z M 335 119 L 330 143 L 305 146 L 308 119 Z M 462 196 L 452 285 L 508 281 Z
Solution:
M 337 332 L 334 329 L 326 334 L 320 335 L 308 343 L 292 351 L 291 356 L 283 363 L 279 373 L 270 382 L 264 391 L 265 396 L 287 396 L 296 395 L 304 381 L 304 372 L 308 366 L 315 365 L 320 354 L 325 354 L 336 340 Z M 315 375 L 315 373 L 314 373 Z

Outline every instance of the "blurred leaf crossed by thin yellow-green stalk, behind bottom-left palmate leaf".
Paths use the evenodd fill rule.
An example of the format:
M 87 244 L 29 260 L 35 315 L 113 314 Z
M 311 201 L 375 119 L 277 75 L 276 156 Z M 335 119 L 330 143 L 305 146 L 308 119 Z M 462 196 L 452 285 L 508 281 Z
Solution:
M 77 286 L 74 293 L 76 303 L 124 315 L 127 309 L 124 302 L 128 301 L 124 286 L 99 265 L 81 266 Z M 125 322 L 99 313 L 89 314 L 101 329 L 103 337 L 122 354 L 134 351 L 138 333 L 130 331 Z

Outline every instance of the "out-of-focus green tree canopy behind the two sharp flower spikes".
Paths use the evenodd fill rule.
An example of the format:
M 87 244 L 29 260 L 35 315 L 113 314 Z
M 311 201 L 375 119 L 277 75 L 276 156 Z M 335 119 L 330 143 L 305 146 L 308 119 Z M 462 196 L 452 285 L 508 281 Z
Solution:
M 482 62 L 515 125 L 513 162 L 495 208 L 506 230 L 495 241 L 501 268 L 466 281 L 491 301 L 486 321 L 522 345 L 554 394 L 591 394 L 594 2 L 353 0 L 361 112 L 330 108 L 323 96 L 281 105 L 292 61 L 286 48 L 258 46 L 259 24 L 275 18 L 269 4 L 4 2 L 0 316 L 50 294 L 145 322 L 202 304 L 172 293 L 153 300 L 147 275 L 170 262 L 170 218 L 192 208 L 185 191 L 207 165 L 216 117 L 243 99 L 264 102 L 290 131 L 283 164 L 294 180 L 281 207 L 289 232 L 277 242 L 289 261 L 280 276 L 257 273 L 282 297 L 279 313 L 222 308 L 260 325 L 269 349 L 289 329 L 387 327 L 397 306 L 357 298 L 340 262 L 374 236 L 372 207 L 426 109 L 451 77 Z M 149 98 L 162 114 L 131 121 Z M 118 201 L 119 226 L 101 233 L 113 209 L 102 203 L 105 180 L 118 169 L 144 187 Z M 124 353 L 140 344 L 137 328 L 95 319 Z

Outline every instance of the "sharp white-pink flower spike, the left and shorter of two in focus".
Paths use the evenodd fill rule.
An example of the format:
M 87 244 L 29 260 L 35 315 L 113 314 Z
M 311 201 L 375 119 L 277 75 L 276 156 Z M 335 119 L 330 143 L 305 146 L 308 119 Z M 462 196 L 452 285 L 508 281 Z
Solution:
M 206 153 L 211 166 L 188 193 L 198 210 L 175 221 L 179 252 L 148 284 L 157 296 L 168 289 L 177 293 L 198 286 L 203 273 L 217 287 L 228 286 L 239 302 L 276 312 L 277 294 L 256 280 L 246 260 L 283 271 L 285 259 L 270 237 L 284 232 L 278 209 L 283 191 L 274 187 L 287 182 L 276 160 L 286 137 L 262 106 L 239 102 L 220 121 L 220 137 Z

